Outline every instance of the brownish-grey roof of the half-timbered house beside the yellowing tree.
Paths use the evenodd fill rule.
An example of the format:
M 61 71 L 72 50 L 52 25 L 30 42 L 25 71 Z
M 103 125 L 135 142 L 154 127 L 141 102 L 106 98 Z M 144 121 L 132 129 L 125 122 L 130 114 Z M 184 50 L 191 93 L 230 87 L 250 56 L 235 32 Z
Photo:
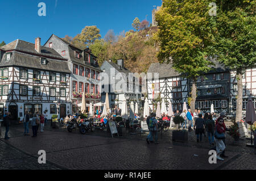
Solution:
M 147 73 L 159 73 L 159 78 L 164 77 L 175 77 L 180 76 L 181 74 L 172 68 L 171 64 L 160 64 L 160 63 L 154 63 L 150 65 L 150 68 L 148 68 Z M 152 77 L 154 77 L 154 74 L 152 74 Z

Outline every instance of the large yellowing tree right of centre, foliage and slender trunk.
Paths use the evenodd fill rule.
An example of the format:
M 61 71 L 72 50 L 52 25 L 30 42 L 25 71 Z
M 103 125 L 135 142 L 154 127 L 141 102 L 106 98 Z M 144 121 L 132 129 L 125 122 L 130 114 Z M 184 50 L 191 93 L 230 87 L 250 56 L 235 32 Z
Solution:
M 192 80 L 191 110 L 195 110 L 196 81 L 213 65 L 208 60 L 212 43 L 209 27 L 210 1 L 165 0 L 156 12 L 158 32 L 155 39 L 160 50 L 159 62 L 172 64 L 175 70 Z

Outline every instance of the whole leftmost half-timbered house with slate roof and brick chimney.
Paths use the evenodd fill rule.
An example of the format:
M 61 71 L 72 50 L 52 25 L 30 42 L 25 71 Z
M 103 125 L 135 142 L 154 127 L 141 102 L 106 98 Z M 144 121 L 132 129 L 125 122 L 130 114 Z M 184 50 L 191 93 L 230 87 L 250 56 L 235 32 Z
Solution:
M 14 120 L 25 111 L 31 116 L 46 111 L 48 119 L 69 113 L 68 60 L 40 42 L 18 39 L 0 47 L 0 116 L 4 110 Z

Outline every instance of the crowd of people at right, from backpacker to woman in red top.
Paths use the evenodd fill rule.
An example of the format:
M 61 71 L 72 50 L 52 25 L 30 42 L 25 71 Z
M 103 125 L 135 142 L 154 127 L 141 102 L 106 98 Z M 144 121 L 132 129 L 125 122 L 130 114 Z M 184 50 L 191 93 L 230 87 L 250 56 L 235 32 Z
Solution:
M 175 116 L 181 116 L 184 118 L 184 122 L 177 125 L 177 127 L 187 129 L 188 125 L 189 132 L 192 130 L 195 131 L 197 142 L 201 142 L 203 134 L 204 137 L 206 137 L 207 133 L 209 145 L 213 146 L 211 149 L 214 149 L 217 152 L 217 159 L 224 160 L 223 158 L 227 157 L 225 155 L 225 132 L 229 131 L 229 129 L 226 128 L 224 123 L 225 112 L 221 112 L 218 118 L 216 113 L 202 113 L 200 110 L 195 110 L 195 112 L 192 113 L 191 109 L 188 109 L 188 111 L 183 110 L 182 113 L 180 113 L 179 110 L 176 110 L 176 112 L 173 112 L 170 116 L 163 113 L 162 117 L 156 117 L 156 113 L 151 113 L 150 116 L 145 116 L 145 121 L 147 122 L 148 130 L 150 131 L 146 138 L 147 144 L 150 144 L 150 142 L 159 144 L 159 118 L 162 118 L 163 121 L 171 121 L 171 118 Z

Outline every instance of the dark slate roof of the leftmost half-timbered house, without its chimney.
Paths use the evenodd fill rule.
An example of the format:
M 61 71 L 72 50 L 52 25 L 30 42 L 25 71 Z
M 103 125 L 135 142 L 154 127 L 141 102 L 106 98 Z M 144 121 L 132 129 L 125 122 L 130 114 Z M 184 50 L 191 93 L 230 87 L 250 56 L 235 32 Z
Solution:
M 11 52 L 11 60 L 6 60 L 6 54 L 3 54 L 0 67 L 22 66 L 24 68 L 34 68 L 49 71 L 58 71 L 71 73 L 68 68 L 67 59 L 63 58 L 55 50 L 41 46 L 41 52 L 35 50 L 35 45 L 22 40 L 15 40 L 0 49 Z M 47 64 L 41 64 L 41 57 L 46 57 Z

